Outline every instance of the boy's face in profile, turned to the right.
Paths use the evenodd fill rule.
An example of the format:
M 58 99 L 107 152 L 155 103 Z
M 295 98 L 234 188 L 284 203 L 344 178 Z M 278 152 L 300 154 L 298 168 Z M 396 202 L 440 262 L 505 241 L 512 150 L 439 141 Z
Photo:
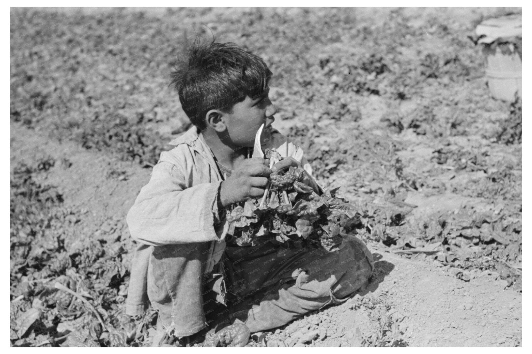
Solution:
M 270 139 L 271 124 L 275 120 L 273 115 L 277 113 L 277 108 L 271 103 L 269 92 L 270 89 L 266 89 L 254 99 L 247 96 L 244 101 L 233 106 L 231 114 L 224 114 L 227 133 L 233 144 L 251 148 L 255 143 L 255 135 L 263 123 L 261 144 Z

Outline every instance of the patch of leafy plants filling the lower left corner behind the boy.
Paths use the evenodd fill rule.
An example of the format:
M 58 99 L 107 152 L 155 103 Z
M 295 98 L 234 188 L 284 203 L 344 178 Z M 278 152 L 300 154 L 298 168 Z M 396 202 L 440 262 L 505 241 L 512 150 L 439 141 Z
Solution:
M 55 187 L 36 182 L 54 166 L 55 160 L 46 158 L 32 166 L 20 163 L 12 172 L 12 345 L 126 346 L 130 319 L 120 305 L 129 273 L 120 234 L 96 234 L 97 240 L 65 248 L 65 241 L 77 236 L 74 225 L 82 212 L 65 209 Z M 93 303 L 97 315 L 79 298 Z

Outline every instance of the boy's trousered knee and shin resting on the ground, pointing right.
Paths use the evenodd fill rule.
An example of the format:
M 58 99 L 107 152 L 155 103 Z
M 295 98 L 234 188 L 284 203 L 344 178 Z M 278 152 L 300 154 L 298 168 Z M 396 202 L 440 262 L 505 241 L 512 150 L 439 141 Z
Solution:
M 257 292 L 235 306 L 233 317 L 242 320 L 251 332 L 279 327 L 365 289 L 373 272 L 371 253 L 354 236 L 347 238 L 345 247 L 337 254 L 317 250 L 298 258 L 294 263 L 298 263 L 301 271 L 296 273 L 295 281 L 285 278 L 281 282 L 288 282 Z

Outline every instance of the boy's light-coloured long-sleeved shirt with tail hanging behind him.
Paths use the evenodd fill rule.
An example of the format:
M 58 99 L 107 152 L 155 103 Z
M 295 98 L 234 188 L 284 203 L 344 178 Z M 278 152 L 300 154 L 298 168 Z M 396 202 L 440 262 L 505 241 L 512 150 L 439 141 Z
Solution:
M 212 271 L 225 250 L 229 223 L 218 210 L 221 182 L 214 154 L 202 134 L 193 126 L 170 142 L 176 145 L 161 153 L 152 176 L 128 212 L 131 237 L 139 244 L 131 267 L 126 313 L 146 309 L 147 269 L 152 246 L 209 242 L 207 271 Z M 311 175 L 303 150 L 275 129 L 263 149 L 293 157 Z

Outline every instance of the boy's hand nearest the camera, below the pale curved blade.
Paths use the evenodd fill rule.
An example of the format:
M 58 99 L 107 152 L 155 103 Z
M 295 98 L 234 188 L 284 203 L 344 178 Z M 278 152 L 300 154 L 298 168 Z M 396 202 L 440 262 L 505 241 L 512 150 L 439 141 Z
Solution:
M 269 165 L 270 160 L 259 157 L 246 159 L 240 163 L 220 187 L 220 203 L 223 208 L 249 198 L 261 197 L 268 184 L 268 176 L 271 174 Z

